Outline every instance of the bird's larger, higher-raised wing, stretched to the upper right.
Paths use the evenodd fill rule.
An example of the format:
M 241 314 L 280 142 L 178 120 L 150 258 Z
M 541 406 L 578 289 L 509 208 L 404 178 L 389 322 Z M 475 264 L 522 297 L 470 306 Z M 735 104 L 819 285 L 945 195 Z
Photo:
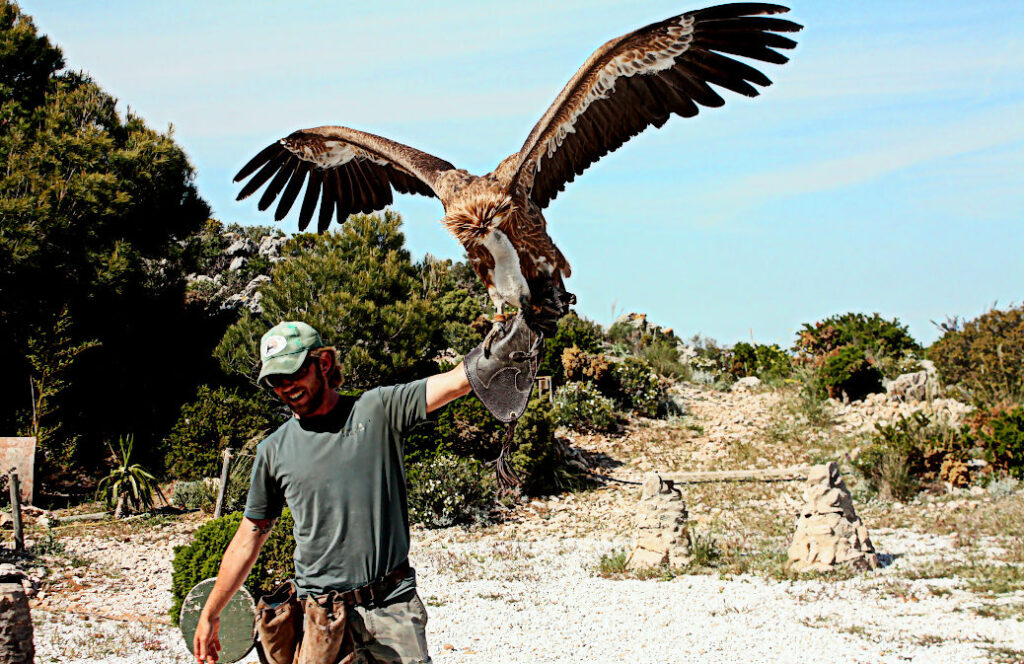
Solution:
M 761 3 L 709 7 L 673 16 L 613 39 L 590 56 L 537 123 L 512 174 L 541 208 L 566 182 L 650 125 L 698 105 L 725 101 L 709 83 L 757 96 L 764 74 L 723 53 L 783 64 L 777 48 L 796 42 L 776 33 L 801 26 L 766 14 L 788 11 Z

